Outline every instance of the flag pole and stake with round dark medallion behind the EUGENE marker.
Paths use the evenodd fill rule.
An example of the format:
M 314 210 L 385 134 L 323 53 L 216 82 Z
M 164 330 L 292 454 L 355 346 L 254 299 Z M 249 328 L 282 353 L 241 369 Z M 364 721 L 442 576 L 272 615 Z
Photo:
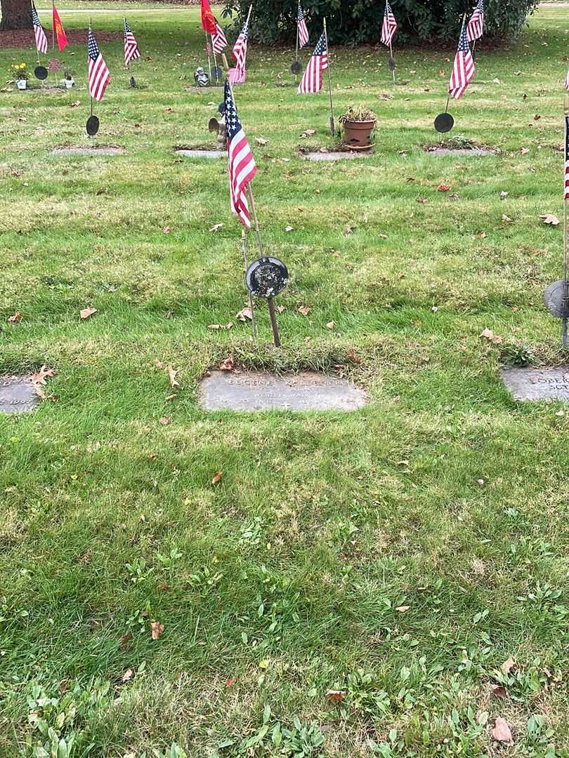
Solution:
M 231 90 L 231 97 L 235 102 L 235 96 L 233 92 L 233 86 L 229 79 L 229 65 L 225 53 L 222 55 L 223 65 L 225 66 L 229 89 Z M 225 111 L 225 107 L 224 107 Z M 271 319 L 272 327 L 272 339 L 275 343 L 275 347 L 281 346 L 281 338 L 278 334 L 277 315 L 275 312 L 275 296 L 282 292 L 288 284 L 288 270 L 285 264 L 278 260 L 278 258 L 272 258 L 270 255 L 265 255 L 265 251 L 262 246 L 261 230 L 259 229 L 259 219 L 257 218 L 257 211 L 255 207 L 255 198 L 253 197 L 253 189 L 251 184 L 247 184 L 247 198 L 251 208 L 251 215 L 253 216 L 253 222 L 255 224 L 255 234 L 257 238 L 257 245 L 259 246 L 260 258 L 249 266 L 247 265 L 247 240 L 244 240 L 244 230 L 241 230 L 241 239 L 243 241 L 243 253 L 246 266 L 245 271 L 245 284 L 247 290 L 249 290 L 249 304 L 251 309 L 251 319 L 253 324 L 253 337 L 256 339 L 256 321 L 255 321 L 255 309 L 253 303 L 253 296 L 264 297 L 269 306 L 269 318 Z

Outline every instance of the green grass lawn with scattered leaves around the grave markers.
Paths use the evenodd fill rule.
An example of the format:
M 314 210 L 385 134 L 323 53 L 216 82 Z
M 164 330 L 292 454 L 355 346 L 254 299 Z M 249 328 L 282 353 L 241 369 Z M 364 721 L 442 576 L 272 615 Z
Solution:
M 221 90 L 186 89 L 198 17 L 129 10 L 137 90 L 122 43 L 101 43 L 96 144 L 124 155 L 50 152 L 88 144 L 83 46 L 61 56 L 71 92 L 6 87 L 34 54 L 0 51 L 0 372 L 57 372 L 33 414 L 0 417 L 0 756 L 569 755 L 569 412 L 513 402 L 498 373 L 564 361 L 542 305 L 562 230 L 539 215 L 562 212 L 567 14 L 480 49 L 451 111 L 499 149 L 483 158 L 423 150 L 450 50 L 397 51 L 394 87 L 384 51 L 335 49 L 337 114 L 374 108 L 376 153 L 313 164 L 298 149 L 333 144 L 325 93 L 296 95 L 290 49 L 251 46 L 237 104 L 292 277 L 278 350 L 266 308 L 258 349 L 235 318 L 225 161 L 173 152 L 215 144 Z M 203 412 L 197 380 L 230 355 L 346 365 L 372 402 Z

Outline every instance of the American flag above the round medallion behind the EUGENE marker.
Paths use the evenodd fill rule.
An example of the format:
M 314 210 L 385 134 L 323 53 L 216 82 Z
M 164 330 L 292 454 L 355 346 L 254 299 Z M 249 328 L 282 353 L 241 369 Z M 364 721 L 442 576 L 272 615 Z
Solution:
M 237 116 L 237 108 L 229 82 L 225 82 L 225 128 L 227 129 L 227 147 L 229 154 L 229 195 L 231 210 L 237 214 L 241 224 L 251 228 L 249 204 L 247 203 L 247 184 L 257 173 L 255 158 L 251 152 L 247 137 Z

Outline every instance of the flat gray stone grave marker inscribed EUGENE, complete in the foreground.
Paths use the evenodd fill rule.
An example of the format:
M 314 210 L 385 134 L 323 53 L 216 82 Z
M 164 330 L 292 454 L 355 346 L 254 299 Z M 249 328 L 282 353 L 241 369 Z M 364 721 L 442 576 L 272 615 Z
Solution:
M 303 371 L 277 377 L 262 371 L 211 371 L 200 383 L 208 411 L 356 411 L 366 393 L 347 379 Z

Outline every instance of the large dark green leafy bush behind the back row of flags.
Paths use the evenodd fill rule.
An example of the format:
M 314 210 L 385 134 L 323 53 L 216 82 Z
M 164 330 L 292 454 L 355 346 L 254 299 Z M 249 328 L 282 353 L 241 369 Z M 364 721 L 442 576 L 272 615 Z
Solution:
M 486 0 L 486 36 L 516 36 L 539 0 Z M 250 0 L 226 0 L 225 17 L 241 23 Z M 472 0 L 392 0 L 398 20 L 398 43 L 447 42 L 457 37 L 464 13 L 472 11 Z M 357 45 L 377 42 L 382 25 L 383 0 L 310 0 L 303 4 L 316 42 L 322 17 L 329 25 L 329 39 L 336 44 Z M 285 42 L 296 35 L 297 0 L 264 0 L 253 4 L 251 37 L 257 42 Z

